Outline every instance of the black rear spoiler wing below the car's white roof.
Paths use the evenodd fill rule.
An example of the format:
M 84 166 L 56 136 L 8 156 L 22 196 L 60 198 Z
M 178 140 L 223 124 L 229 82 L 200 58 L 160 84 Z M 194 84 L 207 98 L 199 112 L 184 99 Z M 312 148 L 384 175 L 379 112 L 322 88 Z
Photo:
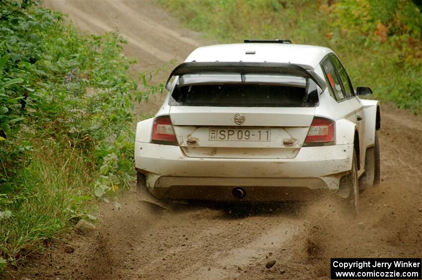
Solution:
M 325 81 L 314 72 L 309 65 L 279 62 L 185 62 L 178 65 L 167 79 L 166 89 L 170 90 L 170 79 L 173 76 L 199 73 L 239 73 L 239 74 L 281 74 L 298 76 L 313 80 L 323 91 L 327 87 Z

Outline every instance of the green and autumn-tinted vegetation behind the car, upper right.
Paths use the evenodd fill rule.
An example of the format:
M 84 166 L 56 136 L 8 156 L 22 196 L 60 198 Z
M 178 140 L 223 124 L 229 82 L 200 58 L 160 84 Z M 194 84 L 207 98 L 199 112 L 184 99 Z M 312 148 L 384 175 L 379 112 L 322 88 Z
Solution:
M 332 48 L 354 86 L 421 110 L 422 13 L 416 0 L 159 1 L 188 27 L 221 43 L 290 39 Z

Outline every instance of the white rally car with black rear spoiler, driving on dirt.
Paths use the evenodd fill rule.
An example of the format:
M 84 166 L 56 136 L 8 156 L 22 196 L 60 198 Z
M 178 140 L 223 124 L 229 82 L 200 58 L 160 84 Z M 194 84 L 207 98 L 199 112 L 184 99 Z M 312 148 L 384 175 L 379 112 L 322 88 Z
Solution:
M 138 185 L 149 201 L 332 192 L 357 207 L 359 188 L 379 182 L 379 104 L 359 99 L 372 91 L 354 89 L 328 48 L 289 40 L 201 47 L 166 88 L 155 117 L 137 126 Z

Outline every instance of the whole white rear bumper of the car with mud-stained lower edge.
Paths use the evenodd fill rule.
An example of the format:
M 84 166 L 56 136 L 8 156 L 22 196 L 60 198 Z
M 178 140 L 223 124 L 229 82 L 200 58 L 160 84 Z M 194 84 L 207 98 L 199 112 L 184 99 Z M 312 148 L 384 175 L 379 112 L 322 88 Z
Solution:
M 135 142 L 138 171 L 158 198 L 233 200 L 303 200 L 317 190 L 336 191 L 352 167 L 352 145 L 303 147 L 293 159 L 189 158 L 178 146 Z M 276 195 L 277 194 L 277 195 Z

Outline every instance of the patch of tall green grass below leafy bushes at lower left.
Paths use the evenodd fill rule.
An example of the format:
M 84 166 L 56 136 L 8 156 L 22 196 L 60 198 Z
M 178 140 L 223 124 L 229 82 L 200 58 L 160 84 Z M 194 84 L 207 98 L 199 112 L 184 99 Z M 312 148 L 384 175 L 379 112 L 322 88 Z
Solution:
M 0 223 L 0 244 L 10 265 L 89 213 L 86 202 L 92 200 L 97 168 L 82 151 L 53 141 L 34 138 L 31 163 L 16 178 L 22 187 L 7 194 L 11 216 Z

